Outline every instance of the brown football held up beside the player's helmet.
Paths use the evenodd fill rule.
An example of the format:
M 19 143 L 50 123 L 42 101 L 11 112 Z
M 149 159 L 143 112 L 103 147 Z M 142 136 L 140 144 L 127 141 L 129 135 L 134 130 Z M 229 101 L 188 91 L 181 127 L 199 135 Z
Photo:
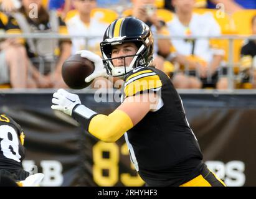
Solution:
M 85 78 L 94 71 L 94 63 L 80 55 L 71 55 L 62 65 L 62 78 L 72 89 L 82 89 L 89 86 Z

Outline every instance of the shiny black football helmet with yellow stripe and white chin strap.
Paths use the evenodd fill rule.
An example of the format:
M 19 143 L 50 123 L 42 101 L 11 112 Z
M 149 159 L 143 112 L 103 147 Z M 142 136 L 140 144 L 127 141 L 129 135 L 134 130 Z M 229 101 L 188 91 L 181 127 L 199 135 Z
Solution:
M 133 42 L 138 51 L 134 55 L 111 58 L 113 45 Z M 135 17 L 124 17 L 113 21 L 105 31 L 103 41 L 100 43 L 102 58 L 108 75 L 124 77 L 131 70 L 139 66 L 148 66 L 153 60 L 153 36 L 148 25 Z M 130 65 L 114 67 L 112 60 L 133 57 Z

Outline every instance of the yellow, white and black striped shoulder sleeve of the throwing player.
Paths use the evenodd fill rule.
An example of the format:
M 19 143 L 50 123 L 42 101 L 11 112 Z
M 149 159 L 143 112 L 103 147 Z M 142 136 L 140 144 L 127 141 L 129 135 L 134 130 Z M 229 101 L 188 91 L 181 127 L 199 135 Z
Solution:
M 127 98 L 137 94 L 157 92 L 161 86 L 162 81 L 156 72 L 147 67 L 140 67 L 127 76 L 123 93 Z

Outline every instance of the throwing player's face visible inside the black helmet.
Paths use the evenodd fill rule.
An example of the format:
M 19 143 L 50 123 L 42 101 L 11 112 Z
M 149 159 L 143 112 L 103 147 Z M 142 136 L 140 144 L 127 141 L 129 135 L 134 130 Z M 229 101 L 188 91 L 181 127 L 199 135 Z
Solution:
M 136 47 L 136 45 L 131 42 L 119 44 L 119 45 L 113 45 L 111 58 L 114 58 L 112 60 L 114 67 L 123 67 L 123 66 L 128 67 L 131 61 L 133 60 L 133 57 L 126 57 L 126 58 L 115 58 L 115 57 L 135 55 L 137 51 L 138 51 L 138 47 Z

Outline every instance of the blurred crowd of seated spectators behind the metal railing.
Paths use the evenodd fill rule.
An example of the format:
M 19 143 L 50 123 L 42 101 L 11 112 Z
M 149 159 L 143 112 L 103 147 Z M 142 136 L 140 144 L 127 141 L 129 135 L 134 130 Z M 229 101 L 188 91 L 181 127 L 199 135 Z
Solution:
M 230 77 L 234 88 L 256 88 L 255 40 L 235 40 L 230 52 L 229 40 L 207 38 L 255 35 L 256 1 L 0 2 L 1 34 L 57 33 L 70 36 L 70 39 L 1 39 L 0 88 L 67 88 L 61 76 L 65 59 L 83 49 L 100 55 L 100 42 L 108 25 L 118 17 L 126 16 L 137 17 L 149 25 L 154 36 L 153 65 L 169 75 L 176 88 L 225 90 L 229 88 Z M 232 65 L 229 65 L 230 60 Z M 113 86 L 110 80 L 100 79 L 105 85 Z M 98 79 L 92 88 L 96 81 Z

